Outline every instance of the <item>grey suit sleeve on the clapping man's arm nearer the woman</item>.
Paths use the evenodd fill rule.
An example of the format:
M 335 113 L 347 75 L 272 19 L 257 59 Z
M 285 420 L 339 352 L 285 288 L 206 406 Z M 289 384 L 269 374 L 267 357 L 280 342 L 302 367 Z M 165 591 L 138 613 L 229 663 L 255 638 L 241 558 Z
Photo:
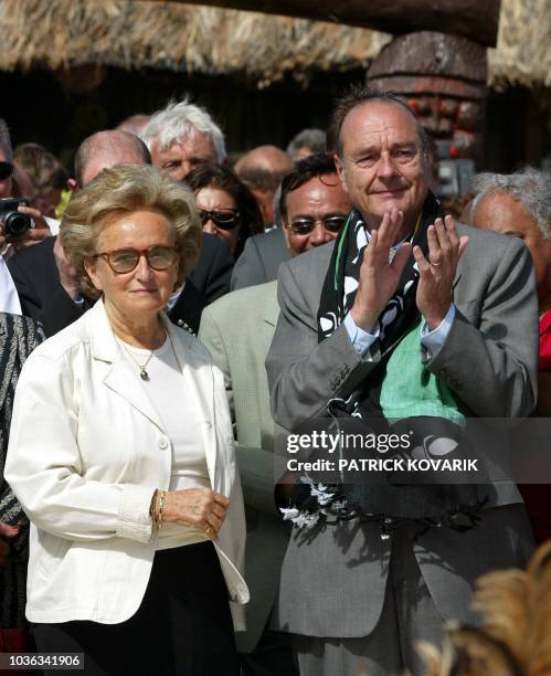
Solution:
M 317 310 L 310 307 L 289 263 L 279 268 L 279 319 L 266 358 L 272 414 L 285 430 L 327 416 L 330 399 L 347 398 L 380 360 L 379 341 L 361 357 L 343 325 L 318 342 Z

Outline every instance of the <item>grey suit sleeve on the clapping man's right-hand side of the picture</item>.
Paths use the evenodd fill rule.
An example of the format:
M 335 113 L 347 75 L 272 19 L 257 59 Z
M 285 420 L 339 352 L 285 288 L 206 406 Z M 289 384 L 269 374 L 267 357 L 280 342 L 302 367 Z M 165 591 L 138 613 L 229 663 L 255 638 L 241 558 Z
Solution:
M 471 274 L 477 274 L 471 271 Z M 475 326 L 457 310 L 426 367 L 480 418 L 529 415 L 537 398 L 538 298 L 528 249 L 510 237 L 480 298 Z

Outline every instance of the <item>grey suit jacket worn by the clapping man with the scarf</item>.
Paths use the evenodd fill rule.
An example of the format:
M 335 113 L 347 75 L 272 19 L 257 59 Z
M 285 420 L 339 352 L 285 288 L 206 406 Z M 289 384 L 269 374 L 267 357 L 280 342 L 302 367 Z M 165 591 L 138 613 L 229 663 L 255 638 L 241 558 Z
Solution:
M 457 311 L 441 350 L 426 368 L 443 379 L 474 415 L 528 415 L 536 401 L 538 309 L 531 258 L 513 237 L 458 225 L 469 235 L 454 288 Z M 360 357 L 343 326 L 318 344 L 317 310 L 332 252 L 328 244 L 282 265 L 282 313 L 266 360 L 276 423 L 294 430 L 322 416 L 333 397 L 346 398 L 380 359 L 378 344 Z M 414 551 L 436 608 L 465 617 L 476 578 L 492 568 L 521 566 L 532 539 L 512 482 L 484 487 L 488 509 L 477 528 L 441 528 Z M 282 570 L 277 623 L 315 636 L 363 636 L 375 626 L 384 599 L 392 538 L 373 525 L 326 527 L 316 537 L 294 531 Z

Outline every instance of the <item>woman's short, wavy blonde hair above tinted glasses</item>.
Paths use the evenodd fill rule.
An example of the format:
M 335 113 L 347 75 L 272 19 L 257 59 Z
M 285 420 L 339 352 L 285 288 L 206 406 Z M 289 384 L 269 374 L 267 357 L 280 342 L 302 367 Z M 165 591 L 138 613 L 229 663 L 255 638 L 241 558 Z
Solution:
M 177 286 L 193 267 L 201 249 L 202 226 L 192 191 L 148 165 L 104 169 L 74 193 L 60 228 L 61 243 L 86 296 L 100 296 L 86 273 L 84 261 L 97 253 L 96 241 L 102 225 L 117 213 L 123 215 L 139 209 L 158 211 L 174 225 L 180 253 Z

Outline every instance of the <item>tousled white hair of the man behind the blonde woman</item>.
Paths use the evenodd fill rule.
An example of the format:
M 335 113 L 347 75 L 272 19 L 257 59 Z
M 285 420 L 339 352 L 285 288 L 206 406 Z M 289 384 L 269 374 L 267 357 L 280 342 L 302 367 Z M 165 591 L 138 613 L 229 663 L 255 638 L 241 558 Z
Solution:
M 211 141 L 219 162 L 225 161 L 225 140 L 222 130 L 204 108 L 191 104 L 189 98 L 179 103 L 169 103 L 166 108 L 155 113 L 140 137 L 149 150 L 153 141 L 157 141 L 160 150 L 165 151 L 194 131 L 200 131 Z

